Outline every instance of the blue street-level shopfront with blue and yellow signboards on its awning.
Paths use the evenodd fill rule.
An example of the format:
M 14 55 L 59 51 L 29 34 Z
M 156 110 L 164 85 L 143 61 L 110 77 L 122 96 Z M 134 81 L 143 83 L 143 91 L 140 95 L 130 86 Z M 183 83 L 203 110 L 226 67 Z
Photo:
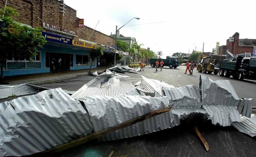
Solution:
M 47 43 L 43 49 L 38 49 L 38 55 L 32 58 L 34 61 L 30 62 L 29 58 L 22 58 L 15 62 L 13 58 L 7 58 L 4 76 L 90 68 L 89 52 L 95 48 L 94 44 L 78 42 L 46 32 L 42 34 L 46 37 Z M 92 68 L 96 68 L 96 59 L 92 64 Z

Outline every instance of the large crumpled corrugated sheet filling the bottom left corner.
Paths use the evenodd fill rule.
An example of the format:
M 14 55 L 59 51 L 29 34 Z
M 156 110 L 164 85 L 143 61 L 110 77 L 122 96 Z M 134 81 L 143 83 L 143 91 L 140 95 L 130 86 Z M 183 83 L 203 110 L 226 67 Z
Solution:
M 61 88 L 0 103 L 0 156 L 42 152 L 93 132 L 82 104 Z

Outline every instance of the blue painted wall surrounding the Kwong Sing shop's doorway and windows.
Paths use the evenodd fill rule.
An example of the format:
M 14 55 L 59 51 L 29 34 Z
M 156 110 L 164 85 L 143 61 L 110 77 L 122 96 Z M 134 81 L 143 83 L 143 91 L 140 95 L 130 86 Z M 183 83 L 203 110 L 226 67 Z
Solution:
M 90 66 L 76 66 L 76 55 L 89 55 L 90 49 L 84 49 L 83 47 L 65 47 L 60 45 L 45 45 L 43 49 L 38 49 L 41 53 L 41 68 L 39 69 L 14 69 L 14 70 L 4 70 L 4 76 L 15 76 L 15 75 L 26 75 L 34 73 L 48 73 L 50 68 L 45 66 L 45 54 L 46 52 L 53 53 L 68 53 L 73 55 L 73 67 L 70 67 L 70 70 L 79 70 L 79 69 L 89 69 Z M 91 68 L 96 68 L 97 58 L 95 59 L 95 64 Z

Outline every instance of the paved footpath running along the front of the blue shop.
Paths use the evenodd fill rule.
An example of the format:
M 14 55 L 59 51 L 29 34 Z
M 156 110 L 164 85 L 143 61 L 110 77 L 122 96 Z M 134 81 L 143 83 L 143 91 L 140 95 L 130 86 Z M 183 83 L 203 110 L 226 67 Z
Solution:
M 97 71 L 102 72 L 110 67 L 99 67 L 91 69 L 91 72 Z M 74 77 L 78 77 L 81 75 L 89 75 L 89 69 L 82 70 L 67 70 L 67 71 L 58 71 L 58 72 L 50 72 L 50 73 L 38 73 L 38 74 L 29 74 L 29 75 L 19 75 L 19 76 L 11 76 L 4 77 L 4 80 L 9 84 L 7 86 L 16 85 L 16 84 L 39 84 L 44 82 L 50 82 L 55 80 L 63 80 L 70 79 Z

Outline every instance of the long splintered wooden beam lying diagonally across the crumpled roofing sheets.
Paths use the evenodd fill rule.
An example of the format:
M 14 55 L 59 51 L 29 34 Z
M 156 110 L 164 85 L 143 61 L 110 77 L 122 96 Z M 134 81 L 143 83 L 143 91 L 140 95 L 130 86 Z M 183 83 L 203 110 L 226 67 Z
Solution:
M 76 139 L 74 141 L 70 141 L 70 142 L 67 142 L 65 144 L 61 144 L 61 145 L 59 145 L 59 146 L 57 146 L 55 148 L 52 148 L 52 149 L 49 149 L 49 150 L 45 150 L 44 152 L 38 153 L 37 155 L 43 155 L 43 154 L 45 155 L 47 153 L 57 153 L 57 152 L 61 152 L 63 150 L 66 150 L 66 149 L 69 149 L 69 148 L 72 148 L 72 147 L 84 144 L 84 143 L 86 143 L 88 141 L 91 141 L 93 139 L 98 139 L 98 138 L 102 137 L 103 135 L 106 135 L 106 134 L 111 133 L 113 131 L 117 131 L 117 130 L 120 130 L 122 128 L 125 128 L 126 126 L 130 126 L 130 125 L 135 124 L 137 122 L 141 122 L 141 121 L 143 121 L 145 119 L 149 119 L 149 118 L 154 117 L 156 115 L 159 115 L 161 113 L 170 111 L 171 108 L 172 108 L 172 106 L 170 108 L 166 108 L 166 109 L 163 109 L 163 110 L 153 111 L 153 112 L 148 113 L 146 115 L 142 115 L 142 116 L 139 116 L 137 118 L 128 120 L 126 122 L 123 122 L 121 124 L 117 124 L 116 126 L 112 126 L 110 128 L 101 130 L 99 132 L 92 133 L 90 135 L 81 137 L 80 139 Z

